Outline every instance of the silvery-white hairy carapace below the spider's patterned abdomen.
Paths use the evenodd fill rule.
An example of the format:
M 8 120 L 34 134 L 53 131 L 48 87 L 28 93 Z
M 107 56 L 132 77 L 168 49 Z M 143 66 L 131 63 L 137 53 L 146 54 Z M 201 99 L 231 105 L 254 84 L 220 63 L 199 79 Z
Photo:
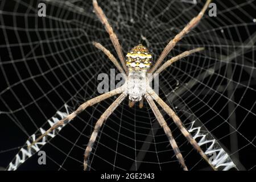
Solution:
M 131 71 L 127 79 L 127 94 L 130 101 L 141 101 L 147 89 L 147 77 L 145 71 Z

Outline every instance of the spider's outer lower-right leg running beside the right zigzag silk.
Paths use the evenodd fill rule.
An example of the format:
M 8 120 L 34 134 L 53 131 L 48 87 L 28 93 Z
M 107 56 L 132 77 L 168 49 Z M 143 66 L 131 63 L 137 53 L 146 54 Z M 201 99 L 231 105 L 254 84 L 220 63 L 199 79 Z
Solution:
M 204 154 L 204 151 L 201 149 L 199 144 L 196 142 L 195 139 L 193 139 L 192 135 L 188 132 L 187 129 L 183 126 L 183 123 L 180 121 L 180 118 L 175 114 L 175 112 L 169 107 L 166 102 L 164 102 L 158 94 L 154 92 L 151 88 L 148 89 L 148 94 L 163 108 L 164 111 L 173 119 L 174 123 L 176 126 L 179 128 L 181 133 L 184 135 L 185 138 L 187 138 L 188 142 L 191 143 L 191 145 L 195 148 L 197 152 L 202 156 L 202 158 L 209 164 L 210 167 L 214 171 L 217 171 L 216 167 L 214 167 L 211 163 L 210 160 L 208 159 L 207 155 Z

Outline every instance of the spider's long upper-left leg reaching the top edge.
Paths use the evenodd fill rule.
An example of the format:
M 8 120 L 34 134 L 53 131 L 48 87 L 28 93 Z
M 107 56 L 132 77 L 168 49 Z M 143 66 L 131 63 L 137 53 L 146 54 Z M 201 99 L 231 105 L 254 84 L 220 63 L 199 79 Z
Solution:
M 101 23 L 104 24 L 106 31 L 109 34 L 109 38 L 111 42 L 113 43 L 113 46 L 115 47 L 115 51 L 117 51 L 117 55 L 121 61 L 121 64 L 123 66 L 123 70 L 127 73 L 126 63 L 125 63 L 125 57 L 123 56 L 122 47 L 120 46 L 118 42 L 117 35 L 114 33 L 113 28 L 110 26 L 108 19 L 106 18 L 106 15 L 102 11 L 101 7 L 98 6 L 97 0 L 93 0 L 93 8 L 100 19 Z

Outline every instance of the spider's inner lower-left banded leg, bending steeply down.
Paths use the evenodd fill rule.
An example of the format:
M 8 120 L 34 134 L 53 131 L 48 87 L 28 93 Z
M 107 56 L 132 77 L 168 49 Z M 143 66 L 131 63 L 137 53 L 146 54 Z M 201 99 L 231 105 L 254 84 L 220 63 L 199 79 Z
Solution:
M 110 105 L 108 107 L 107 110 L 105 110 L 105 112 L 101 115 L 100 119 L 98 119 L 98 121 L 96 122 L 96 125 L 94 126 L 94 130 L 92 135 L 90 136 L 88 145 L 85 149 L 84 152 L 84 171 L 86 171 L 87 168 L 87 160 L 89 158 L 90 152 L 92 151 L 93 148 L 93 144 L 97 138 L 98 135 L 98 131 L 100 131 L 100 128 L 103 124 L 103 122 L 108 119 L 109 115 L 113 113 L 113 111 L 115 110 L 115 108 L 117 108 L 117 106 L 119 104 L 121 104 L 121 102 L 125 99 L 126 94 L 122 93 L 113 103 L 112 105 Z

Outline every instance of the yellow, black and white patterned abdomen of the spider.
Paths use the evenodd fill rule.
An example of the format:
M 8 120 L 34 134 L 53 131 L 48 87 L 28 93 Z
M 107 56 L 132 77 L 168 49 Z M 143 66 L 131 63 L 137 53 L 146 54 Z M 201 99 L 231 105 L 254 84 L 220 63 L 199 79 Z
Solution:
M 142 44 L 131 49 L 126 57 L 126 66 L 131 69 L 148 69 L 152 63 L 151 53 Z

